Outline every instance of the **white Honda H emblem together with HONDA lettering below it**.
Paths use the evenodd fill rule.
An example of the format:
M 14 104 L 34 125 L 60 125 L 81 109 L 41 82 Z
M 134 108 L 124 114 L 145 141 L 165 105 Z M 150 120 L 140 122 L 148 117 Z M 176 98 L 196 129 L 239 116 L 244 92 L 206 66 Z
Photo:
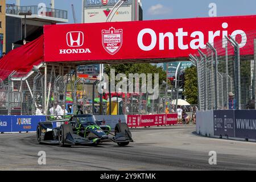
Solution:
M 81 31 L 68 32 L 66 35 L 67 46 L 72 49 L 60 49 L 60 54 L 90 53 L 89 48 L 78 48 L 84 45 L 84 33 Z

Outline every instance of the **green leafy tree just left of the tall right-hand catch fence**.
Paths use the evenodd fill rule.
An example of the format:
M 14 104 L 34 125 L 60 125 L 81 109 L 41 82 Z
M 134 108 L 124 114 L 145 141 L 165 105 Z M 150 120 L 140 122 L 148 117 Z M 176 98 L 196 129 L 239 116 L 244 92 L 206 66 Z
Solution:
M 189 104 L 198 104 L 197 71 L 195 66 L 185 69 L 185 84 L 183 94 L 187 101 L 189 102 Z

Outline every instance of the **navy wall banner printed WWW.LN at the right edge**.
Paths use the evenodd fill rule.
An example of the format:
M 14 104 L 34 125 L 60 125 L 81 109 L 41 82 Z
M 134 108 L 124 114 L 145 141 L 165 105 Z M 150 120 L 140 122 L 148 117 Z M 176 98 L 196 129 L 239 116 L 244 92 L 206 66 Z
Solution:
M 256 139 L 256 110 L 235 110 L 236 138 Z

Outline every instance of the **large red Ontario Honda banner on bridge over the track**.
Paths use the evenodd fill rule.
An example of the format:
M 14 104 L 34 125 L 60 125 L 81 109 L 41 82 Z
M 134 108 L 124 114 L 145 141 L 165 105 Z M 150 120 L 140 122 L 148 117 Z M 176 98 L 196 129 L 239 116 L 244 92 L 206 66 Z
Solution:
M 45 61 L 188 57 L 225 35 L 256 30 L 256 15 L 44 26 Z M 242 36 L 241 51 L 247 36 Z M 222 48 L 225 48 L 225 42 Z

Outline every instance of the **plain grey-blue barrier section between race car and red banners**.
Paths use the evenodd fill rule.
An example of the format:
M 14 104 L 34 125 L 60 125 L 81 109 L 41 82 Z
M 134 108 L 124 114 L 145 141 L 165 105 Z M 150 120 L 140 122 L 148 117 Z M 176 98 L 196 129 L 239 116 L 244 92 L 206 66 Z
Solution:
M 109 125 L 111 129 L 115 129 L 115 125 L 119 122 L 126 123 L 127 115 L 95 115 L 96 120 L 102 120 L 102 124 Z

